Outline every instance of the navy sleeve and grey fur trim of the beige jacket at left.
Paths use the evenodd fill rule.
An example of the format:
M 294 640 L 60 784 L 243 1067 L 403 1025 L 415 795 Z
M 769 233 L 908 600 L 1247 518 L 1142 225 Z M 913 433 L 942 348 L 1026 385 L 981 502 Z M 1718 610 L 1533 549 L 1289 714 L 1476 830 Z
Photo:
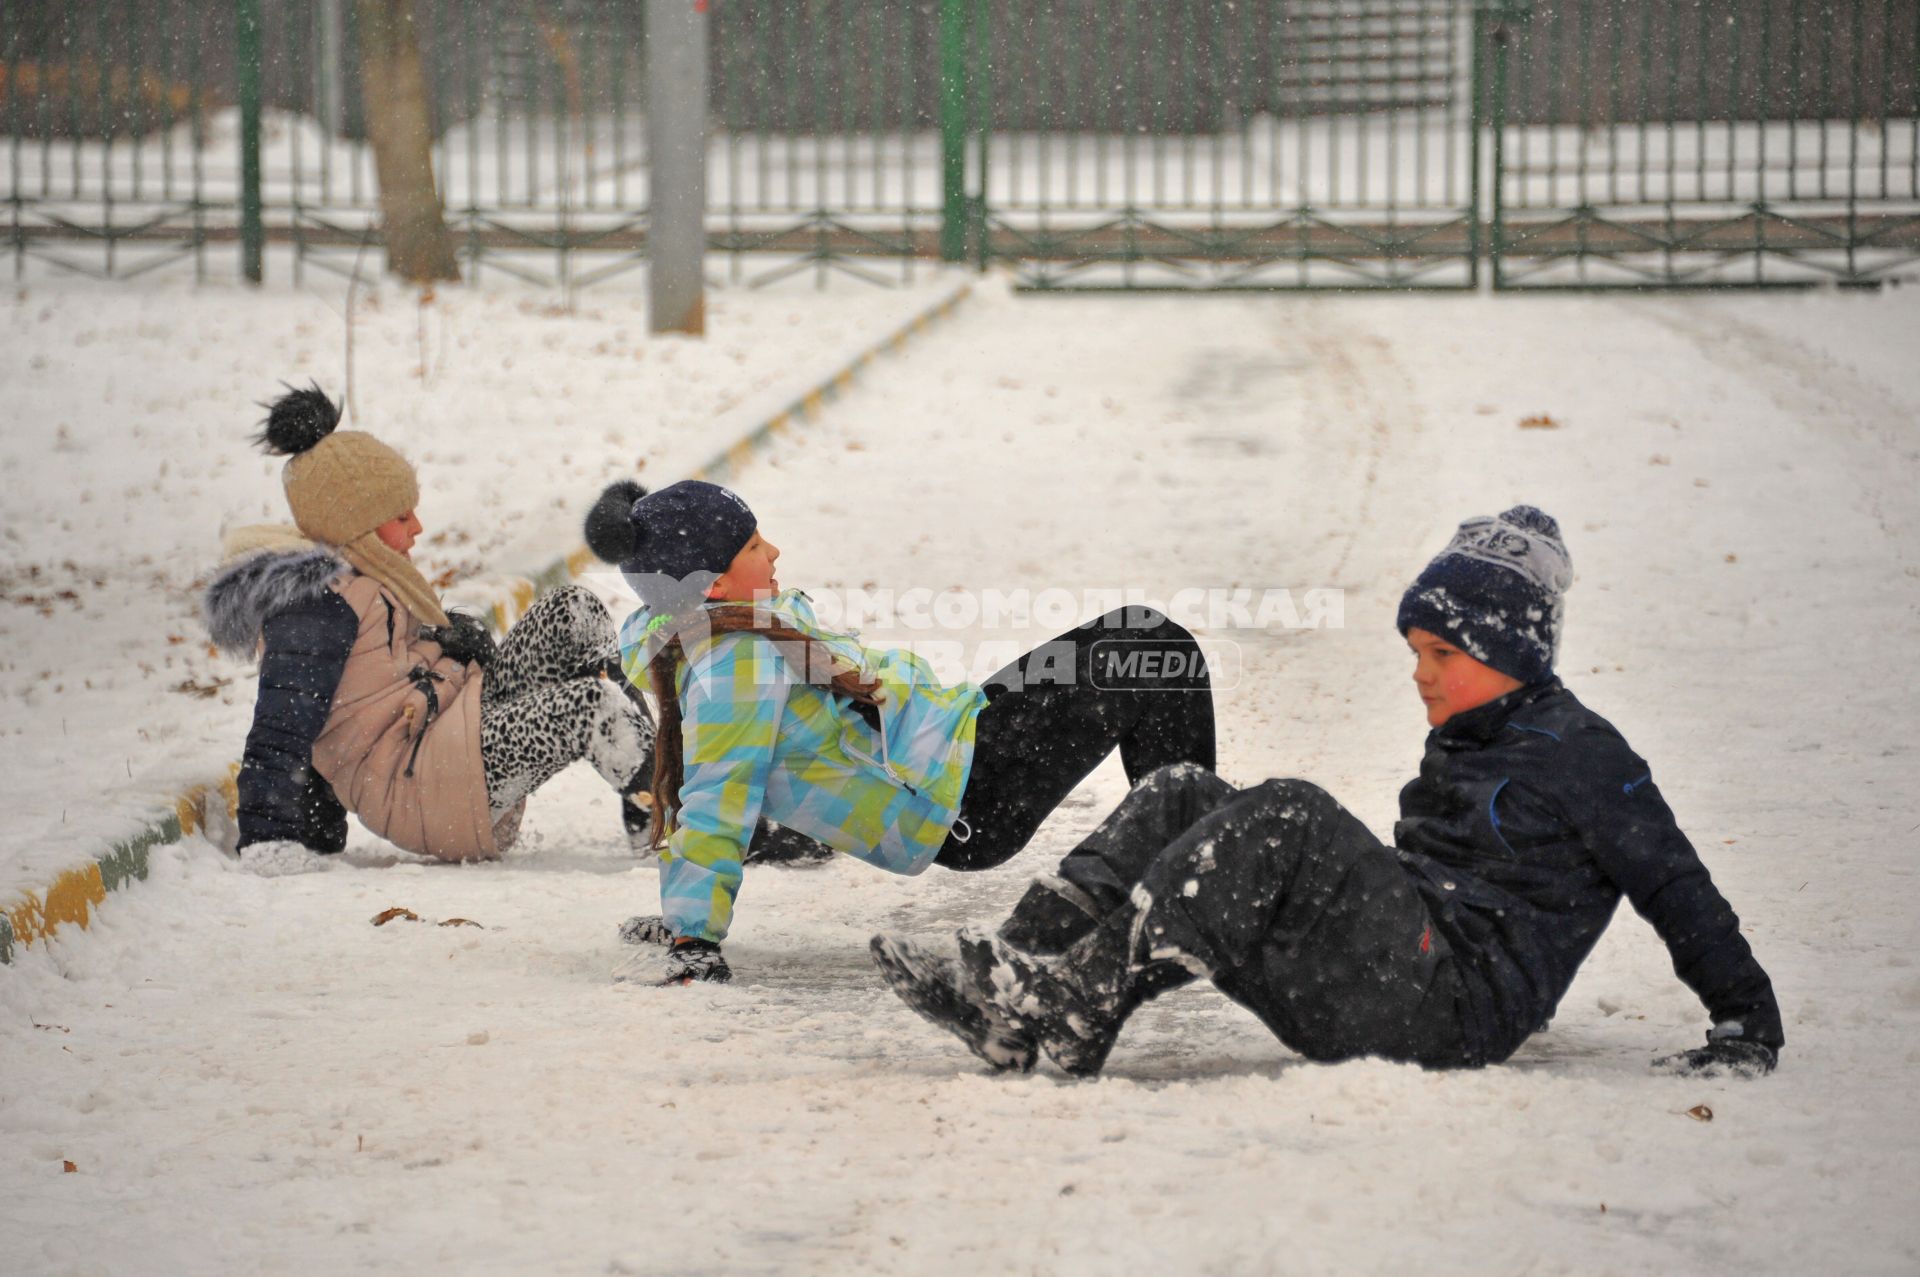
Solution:
M 313 741 L 359 634 L 353 607 L 332 590 L 346 570 L 328 549 L 255 553 L 207 588 L 213 641 L 236 655 L 261 653 L 253 726 L 240 757 L 240 847 L 275 839 L 328 853 L 346 847 L 346 808 L 313 770 Z

